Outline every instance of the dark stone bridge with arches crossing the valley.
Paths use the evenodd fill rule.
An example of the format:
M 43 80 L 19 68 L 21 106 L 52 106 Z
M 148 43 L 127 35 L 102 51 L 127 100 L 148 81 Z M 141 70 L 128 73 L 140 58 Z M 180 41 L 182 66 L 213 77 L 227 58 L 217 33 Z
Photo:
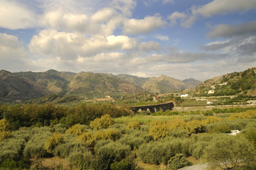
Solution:
M 162 104 L 155 104 L 155 105 L 147 105 L 147 106 L 132 106 L 130 107 L 133 113 L 138 111 L 150 111 L 151 113 L 155 113 L 157 111 L 167 111 L 172 110 L 174 108 L 174 104 L 172 102 L 169 103 L 162 103 Z

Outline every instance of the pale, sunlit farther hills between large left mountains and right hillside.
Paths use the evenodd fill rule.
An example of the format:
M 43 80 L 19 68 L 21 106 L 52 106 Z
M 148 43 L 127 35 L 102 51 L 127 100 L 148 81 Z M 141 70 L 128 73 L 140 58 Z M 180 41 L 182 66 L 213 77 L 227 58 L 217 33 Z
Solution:
M 201 83 L 201 81 L 197 81 L 195 79 L 180 81 L 171 77 L 167 77 L 165 75 L 162 75 L 160 77 L 142 78 L 130 76 L 127 74 L 118 74 L 116 77 L 136 84 L 145 89 L 146 91 L 150 91 L 151 93 L 159 94 L 180 91 L 182 89 L 191 89 Z

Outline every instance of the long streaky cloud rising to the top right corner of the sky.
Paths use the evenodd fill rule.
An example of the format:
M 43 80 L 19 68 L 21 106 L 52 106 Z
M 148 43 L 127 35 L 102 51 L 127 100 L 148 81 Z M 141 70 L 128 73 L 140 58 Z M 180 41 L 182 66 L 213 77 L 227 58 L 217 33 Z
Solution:
M 174 12 L 169 19 L 172 24 L 176 24 L 177 19 L 184 19 L 181 26 L 189 28 L 197 21 L 200 17 L 209 18 L 216 15 L 223 15 L 226 13 L 234 13 L 238 11 L 249 11 L 256 8 L 255 0 L 213 0 L 204 6 L 192 6 L 187 14 Z M 186 18 L 187 15 L 187 18 Z

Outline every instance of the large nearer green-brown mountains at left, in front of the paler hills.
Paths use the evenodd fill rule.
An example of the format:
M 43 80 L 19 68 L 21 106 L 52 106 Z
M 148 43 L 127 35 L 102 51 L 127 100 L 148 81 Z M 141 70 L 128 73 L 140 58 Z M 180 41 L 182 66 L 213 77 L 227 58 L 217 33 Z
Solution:
M 91 72 L 16 72 L 0 71 L 0 101 L 28 100 L 49 94 L 84 98 L 145 93 L 140 86 L 113 74 Z M 61 96 L 62 98 L 65 98 Z

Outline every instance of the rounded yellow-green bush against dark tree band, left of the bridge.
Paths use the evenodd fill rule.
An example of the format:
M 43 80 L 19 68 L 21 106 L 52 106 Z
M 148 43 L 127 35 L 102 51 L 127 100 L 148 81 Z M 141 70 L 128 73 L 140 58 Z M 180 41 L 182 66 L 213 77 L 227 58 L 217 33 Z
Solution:
M 102 115 L 101 118 L 96 118 L 90 123 L 90 128 L 100 130 L 102 128 L 108 128 L 113 124 L 113 120 L 110 115 Z

